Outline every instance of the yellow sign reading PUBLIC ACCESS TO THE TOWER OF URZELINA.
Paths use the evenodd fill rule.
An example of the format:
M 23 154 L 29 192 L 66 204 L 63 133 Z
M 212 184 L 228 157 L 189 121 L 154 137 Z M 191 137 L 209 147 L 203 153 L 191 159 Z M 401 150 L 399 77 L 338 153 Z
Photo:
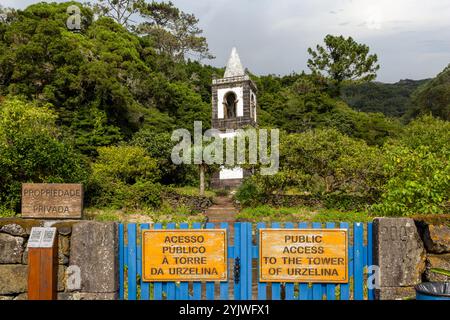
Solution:
M 347 283 L 346 229 L 260 229 L 260 282 Z

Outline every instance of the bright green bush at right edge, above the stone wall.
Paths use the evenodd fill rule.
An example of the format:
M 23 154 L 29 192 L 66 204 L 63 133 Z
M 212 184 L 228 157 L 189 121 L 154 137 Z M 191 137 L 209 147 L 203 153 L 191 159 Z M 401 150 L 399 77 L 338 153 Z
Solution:
M 450 211 L 450 122 L 425 116 L 385 146 L 388 181 L 372 210 L 388 216 Z

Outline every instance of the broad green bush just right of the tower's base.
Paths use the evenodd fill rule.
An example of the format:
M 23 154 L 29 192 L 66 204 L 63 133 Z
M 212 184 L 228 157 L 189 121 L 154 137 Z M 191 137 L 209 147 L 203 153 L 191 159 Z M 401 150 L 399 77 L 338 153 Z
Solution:
M 236 198 L 244 206 L 254 206 L 296 189 L 327 207 L 361 209 L 382 192 L 386 181 L 384 158 L 378 147 L 334 129 L 282 133 L 279 172 L 247 179 Z

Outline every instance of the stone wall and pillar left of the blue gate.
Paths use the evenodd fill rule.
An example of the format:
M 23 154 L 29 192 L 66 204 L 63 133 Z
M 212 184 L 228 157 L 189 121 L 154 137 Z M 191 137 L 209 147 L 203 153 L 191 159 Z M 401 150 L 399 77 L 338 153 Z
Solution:
M 116 223 L 0 219 L 0 300 L 27 299 L 27 242 L 32 227 L 57 228 L 58 299 L 117 297 Z M 79 287 L 74 270 L 80 271 Z

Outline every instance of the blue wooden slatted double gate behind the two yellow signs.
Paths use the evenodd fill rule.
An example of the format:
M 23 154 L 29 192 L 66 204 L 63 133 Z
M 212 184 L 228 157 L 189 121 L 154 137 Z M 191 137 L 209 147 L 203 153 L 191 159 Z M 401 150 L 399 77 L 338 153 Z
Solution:
M 168 223 L 166 229 L 189 229 L 187 223 Z M 233 229 L 234 241 L 227 247 L 227 282 L 144 282 L 142 281 L 141 232 L 150 224 L 119 224 L 119 299 L 121 300 L 373 300 L 367 285 L 367 268 L 372 265 L 372 223 L 258 223 L 237 222 L 202 225 L 191 229 Z M 348 230 L 349 282 L 266 283 L 258 280 L 258 230 L 261 228 Z M 163 229 L 156 223 L 153 229 Z M 230 242 L 233 242 L 232 244 Z M 234 279 L 236 277 L 236 279 Z

